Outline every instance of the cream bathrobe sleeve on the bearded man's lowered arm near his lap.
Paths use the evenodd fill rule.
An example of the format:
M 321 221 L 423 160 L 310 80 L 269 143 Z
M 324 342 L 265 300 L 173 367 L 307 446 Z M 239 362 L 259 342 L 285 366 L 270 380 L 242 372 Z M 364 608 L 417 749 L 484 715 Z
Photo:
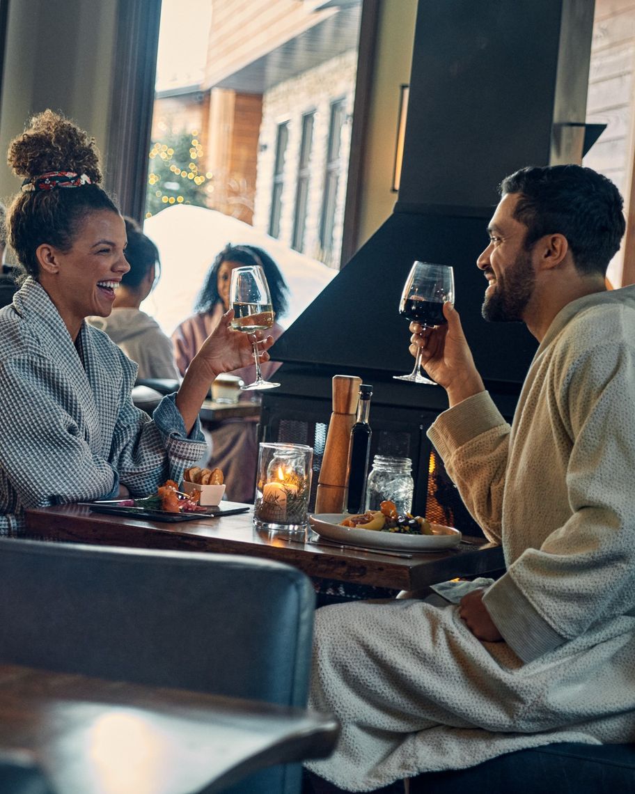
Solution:
M 635 350 L 607 340 L 554 369 L 552 423 L 570 446 L 571 516 L 540 548 L 525 549 L 483 599 L 524 661 L 635 615 Z

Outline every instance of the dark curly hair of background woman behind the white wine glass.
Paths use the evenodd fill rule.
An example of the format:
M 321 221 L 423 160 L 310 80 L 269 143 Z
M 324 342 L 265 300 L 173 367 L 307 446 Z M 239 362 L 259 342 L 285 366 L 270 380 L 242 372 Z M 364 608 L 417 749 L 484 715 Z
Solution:
M 271 256 L 266 251 L 256 248 L 255 245 L 232 245 L 228 243 L 221 252 L 217 253 L 214 262 L 207 272 L 202 290 L 198 293 L 194 303 L 194 311 L 207 314 L 221 303 L 218 294 L 218 268 L 223 262 L 239 262 L 240 264 L 260 264 L 271 293 L 271 306 L 277 318 L 287 313 L 288 291 L 287 282 Z

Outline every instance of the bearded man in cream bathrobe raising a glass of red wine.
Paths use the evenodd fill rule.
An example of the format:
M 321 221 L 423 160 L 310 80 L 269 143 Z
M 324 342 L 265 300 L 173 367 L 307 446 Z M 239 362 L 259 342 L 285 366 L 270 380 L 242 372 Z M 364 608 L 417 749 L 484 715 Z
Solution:
M 428 435 L 506 572 L 457 606 L 318 610 L 310 704 L 342 736 L 309 766 L 346 791 L 635 740 L 635 287 L 605 287 L 622 197 L 575 165 L 522 169 L 501 195 L 477 260 L 483 317 L 540 343 L 512 425 L 453 306 L 444 326 L 410 326 L 410 352 L 447 391 Z

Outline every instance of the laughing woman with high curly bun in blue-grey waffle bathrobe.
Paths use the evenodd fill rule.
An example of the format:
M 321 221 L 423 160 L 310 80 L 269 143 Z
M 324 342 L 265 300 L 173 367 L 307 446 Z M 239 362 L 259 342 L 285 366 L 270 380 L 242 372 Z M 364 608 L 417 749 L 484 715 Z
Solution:
M 253 359 L 248 335 L 223 315 L 179 391 L 152 418 L 133 405 L 133 364 L 105 333 L 125 260 L 125 224 L 100 187 L 94 141 L 46 110 L 10 144 L 23 179 L 7 212 L 23 271 L 0 310 L 0 534 L 20 534 L 26 507 L 147 495 L 179 481 L 206 445 L 198 411 L 221 372 Z M 268 359 L 271 338 L 259 339 Z

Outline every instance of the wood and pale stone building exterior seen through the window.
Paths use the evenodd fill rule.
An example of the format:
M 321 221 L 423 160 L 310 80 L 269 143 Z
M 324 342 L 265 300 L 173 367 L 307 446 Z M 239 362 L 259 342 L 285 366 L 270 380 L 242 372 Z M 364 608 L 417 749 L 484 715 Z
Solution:
M 337 268 L 361 0 L 210 2 L 205 77 L 156 95 L 152 141 L 192 133 L 196 202 Z M 148 191 L 188 202 L 153 172 Z

